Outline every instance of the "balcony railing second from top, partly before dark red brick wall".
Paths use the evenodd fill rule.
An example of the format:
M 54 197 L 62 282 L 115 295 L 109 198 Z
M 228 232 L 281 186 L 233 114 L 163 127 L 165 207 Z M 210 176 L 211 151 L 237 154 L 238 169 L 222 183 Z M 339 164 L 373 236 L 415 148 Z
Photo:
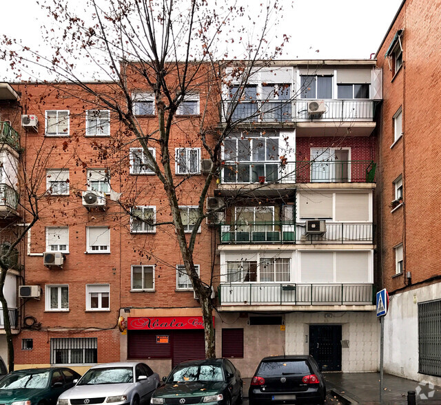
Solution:
M 222 183 L 374 183 L 373 160 L 225 162 Z

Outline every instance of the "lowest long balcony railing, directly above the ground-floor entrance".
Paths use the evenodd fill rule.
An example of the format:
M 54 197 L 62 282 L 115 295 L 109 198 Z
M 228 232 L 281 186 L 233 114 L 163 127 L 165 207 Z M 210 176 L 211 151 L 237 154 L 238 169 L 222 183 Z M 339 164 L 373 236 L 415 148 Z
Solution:
M 371 305 L 373 284 L 221 283 L 220 305 Z

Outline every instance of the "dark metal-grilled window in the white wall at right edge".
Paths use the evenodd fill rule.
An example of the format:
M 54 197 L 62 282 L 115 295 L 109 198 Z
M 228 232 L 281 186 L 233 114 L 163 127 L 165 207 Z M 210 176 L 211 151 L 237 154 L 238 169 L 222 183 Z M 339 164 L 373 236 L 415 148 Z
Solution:
M 418 304 L 418 373 L 441 376 L 441 300 Z

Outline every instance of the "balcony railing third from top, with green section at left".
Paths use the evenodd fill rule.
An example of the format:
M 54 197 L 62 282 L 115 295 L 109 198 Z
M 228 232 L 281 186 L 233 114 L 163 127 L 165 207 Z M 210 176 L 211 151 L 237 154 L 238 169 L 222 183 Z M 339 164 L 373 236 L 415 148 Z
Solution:
M 253 222 L 220 225 L 221 243 L 371 243 L 371 223 L 329 223 L 322 235 L 307 235 L 305 224 Z

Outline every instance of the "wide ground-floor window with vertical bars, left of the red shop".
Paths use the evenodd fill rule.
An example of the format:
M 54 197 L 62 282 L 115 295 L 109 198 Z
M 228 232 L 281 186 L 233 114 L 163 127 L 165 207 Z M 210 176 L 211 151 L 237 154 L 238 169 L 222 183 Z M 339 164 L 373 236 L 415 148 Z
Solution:
M 50 364 L 97 362 L 96 337 L 61 337 L 50 340 Z

